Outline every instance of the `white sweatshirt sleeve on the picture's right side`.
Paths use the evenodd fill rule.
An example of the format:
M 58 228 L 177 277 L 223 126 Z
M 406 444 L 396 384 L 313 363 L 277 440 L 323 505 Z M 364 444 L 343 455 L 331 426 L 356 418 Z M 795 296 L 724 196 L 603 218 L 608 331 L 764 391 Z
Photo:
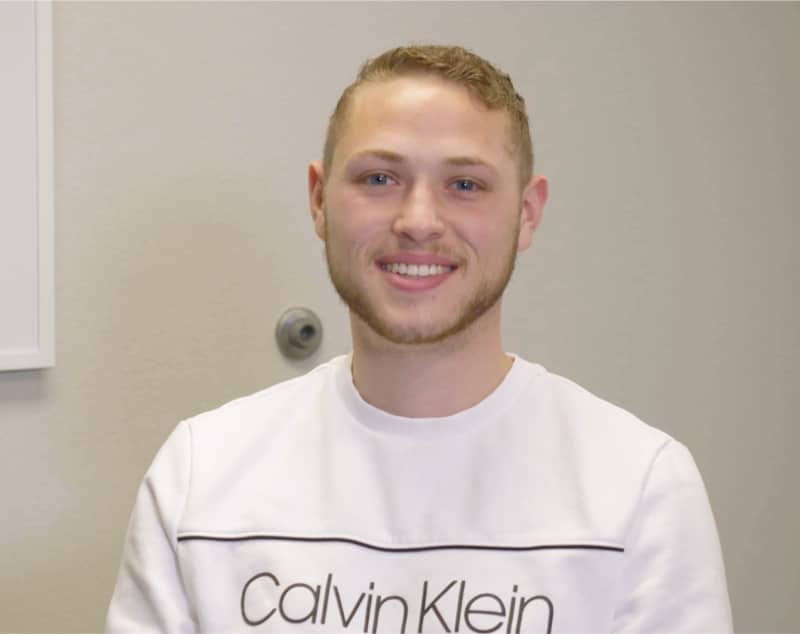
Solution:
M 689 450 L 674 440 L 651 466 L 626 559 L 615 634 L 733 631 L 705 486 Z

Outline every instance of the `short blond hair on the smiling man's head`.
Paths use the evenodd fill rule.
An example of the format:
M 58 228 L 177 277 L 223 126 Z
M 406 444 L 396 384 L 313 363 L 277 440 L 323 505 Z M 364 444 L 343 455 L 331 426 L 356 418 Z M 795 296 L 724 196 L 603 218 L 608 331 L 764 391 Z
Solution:
M 518 155 L 520 181 L 523 186 L 527 184 L 533 175 L 533 144 L 525 99 L 514 89 L 507 73 L 460 46 L 400 46 L 367 60 L 356 80 L 339 97 L 328 123 L 323 152 L 326 174 L 330 173 L 336 145 L 347 123 L 348 107 L 358 87 L 416 74 L 433 75 L 464 86 L 488 109 L 507 112 L 511 123 L 511 143 Z

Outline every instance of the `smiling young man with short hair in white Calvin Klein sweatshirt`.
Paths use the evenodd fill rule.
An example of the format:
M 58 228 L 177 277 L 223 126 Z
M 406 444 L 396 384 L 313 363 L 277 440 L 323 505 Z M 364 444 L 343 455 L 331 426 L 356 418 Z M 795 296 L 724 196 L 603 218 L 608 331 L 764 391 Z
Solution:
M 334 112 L 311 212 L 353 352 L 185 421 L 145 477 L 110 631 L 730 632 L 689 452 L 503 350 L 547 198 L 522 98 L 388 51 Z

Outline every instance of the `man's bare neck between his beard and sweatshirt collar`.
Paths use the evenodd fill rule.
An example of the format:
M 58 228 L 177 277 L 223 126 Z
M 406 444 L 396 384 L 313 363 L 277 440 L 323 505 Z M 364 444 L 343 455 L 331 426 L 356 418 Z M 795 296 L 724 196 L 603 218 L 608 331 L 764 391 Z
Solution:
M 370 405 L 408 418 L 449 416 L 476 405 L 505 378 L 500 306 L 433 344 L 395 344 L 351 315 L 353 382 Z

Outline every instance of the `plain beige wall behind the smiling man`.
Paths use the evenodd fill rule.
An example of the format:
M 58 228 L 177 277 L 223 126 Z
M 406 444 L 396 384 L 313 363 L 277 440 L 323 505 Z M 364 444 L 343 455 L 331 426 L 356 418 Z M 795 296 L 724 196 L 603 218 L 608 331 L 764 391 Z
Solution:
M 507 348 L 684 441 L 739 631 L 800 631 L 800 5 L 57 4 L 57 366 L 0 374 L 0 631 L 102 626 L 175 423 L 347 349 L 304 197 L 367 55 L 459 42 L 527 97 L 552 203 Z M 278 357 L 294 304 L 317 359 Z

